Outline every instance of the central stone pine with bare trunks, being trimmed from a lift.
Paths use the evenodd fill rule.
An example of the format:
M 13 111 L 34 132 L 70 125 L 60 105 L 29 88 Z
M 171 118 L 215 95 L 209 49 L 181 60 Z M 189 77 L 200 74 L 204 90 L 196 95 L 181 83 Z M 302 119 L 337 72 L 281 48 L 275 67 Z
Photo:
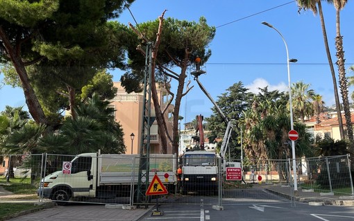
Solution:
M 121 77 L 122 86 L 129 93 L 138 91 L 141 80 L 143 79 L 144 70 L 144 45 L 154 41 L 153 48 L 153 79 L 152 82 L 152 98 L 155 108 L 156 120 L 158 122 L 158 131 L 162 141 L 162 152 L 167 153 L 167 139 L 172 143 L 174 153 L 178 153 L 178 114 L 180 111 L 180 101 L 188 93 L 192 87 L 186 85 L 187 71 L 191 65 L 194 66 L 196 56 L 199 56 L 203 62 L 206 62 L 211 55 L 208 45 L 215 35 L 215 28 L 208 26 L 206 19 L 201 17 L 199 22 L 180 21 L 177 19 L 164 19 L 165 12 L 159 19 L 149 21 L 137 26 L 130 25 L 137 36 L 140 37 L 140 50 L 136 50 L 137 45 L 131 45 L 129 50 L 130 71 Z M 156 34 L 157 33 L 157 34 Z M 137 43 L 139 43 L 137 41 Z M 138 47 L 139 48 L 139 47 Z M 172 91 L 170 81 L 176 80 L 176 91 Z M 158 100 L 158 94 L 155 83 L 161 82 L 169 94 L 171 99 L 169 103 L 174 102 L 173 110 L 173 130 L 172 134 L 168 134 L 165 118 L 164 107 L 162 109 Z M 187 87 L 186 87 L 187 86 Z M 186 87 L 186 88 L 185 88 Z

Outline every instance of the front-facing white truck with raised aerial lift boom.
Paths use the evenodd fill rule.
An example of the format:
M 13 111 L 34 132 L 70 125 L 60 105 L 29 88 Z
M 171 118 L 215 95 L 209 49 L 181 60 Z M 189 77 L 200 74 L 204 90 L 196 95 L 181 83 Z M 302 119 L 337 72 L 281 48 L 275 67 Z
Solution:
M 199 145 L 194 146 L 192 150 L 185 151 L 181 157 L 180 163 L 183 166 L 182 176 L 182 192 L 183 194 L 189 191 L 208 191 L 214 194 L 221 193 L 219 186 L 221 186 L 221 176 L 224 174 L 226 167 L 241 167 L 239 162 L 226 161 L 226 150 L 228 150 L 228 142 L 233 130 L 233 121 L 230 121 L 220 107 L 212 99 L 208 91 L 199 81 L 199 76 L 205 73 L 205 71 L 199 69 L 197 66 L 196 71 L 192 71 L 194 80 L 198 83 L 203 93 L 213 103 L 217 112 L 221 115 L 226 123 L 226 132 L 224 134 L 223 141 L 219 154 L 214 151 L 207 151 L 204 148 L 204 132 L 203 132 L 203 116 L 196 116 L 197 127 L 196 132 L 199 132 Z

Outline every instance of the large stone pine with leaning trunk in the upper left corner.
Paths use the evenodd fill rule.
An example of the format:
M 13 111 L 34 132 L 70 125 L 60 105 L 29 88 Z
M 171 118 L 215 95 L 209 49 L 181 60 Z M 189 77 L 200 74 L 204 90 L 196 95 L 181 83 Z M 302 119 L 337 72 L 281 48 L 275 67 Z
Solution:
M 0 1 L 0 62 L 15 68 L 28 110 L 37 123 L 49 124 L 26 67 L 44 60 L 80 60 L 95 53 L 87 49 L 97 48 L 102 43 L 98 39 L 112 30 L 108 19 L 117 18 L 124 4 L 133 1 Z

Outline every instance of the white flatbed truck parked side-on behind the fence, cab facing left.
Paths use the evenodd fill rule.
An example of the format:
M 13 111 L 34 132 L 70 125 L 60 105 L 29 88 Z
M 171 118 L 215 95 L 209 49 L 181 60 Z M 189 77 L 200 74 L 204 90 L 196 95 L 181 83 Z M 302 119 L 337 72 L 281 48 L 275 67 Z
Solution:
M 78 154 L 44 177 L 37 195 L 65 204 L 73 197 L 110 199 L 132 196 L 139 171 L 138 154 Z M 176 184 L 176 156 L 150 154 L 149 182 L 155 174 L 171 190 Z M 66 165 L 66 166 L 64 166 Z M 146 180 L 143 180 L 145 182 Z

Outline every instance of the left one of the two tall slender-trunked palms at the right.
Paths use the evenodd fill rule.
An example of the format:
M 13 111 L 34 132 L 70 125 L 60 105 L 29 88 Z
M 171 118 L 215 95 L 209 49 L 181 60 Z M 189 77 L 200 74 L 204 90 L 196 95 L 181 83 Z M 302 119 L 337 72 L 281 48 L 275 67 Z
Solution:
M 312 12 L 314 12 L 314 15 L 317 15 L 317 6 L 319 8 L 318 12 L 319 12 L 319 17 L 320 17 L 320 21 L 321 21 L 323 41 L 324 41 L 325 48 L 326 48 L 328 64 L 330 65 L 330 73 L 332 74 L 333 91 L 335 94 L 335 105 L 336 105 L 336 109 L 337 109 L 338 124 L 339 124 L 339 133 L 340 133 L 341 139 L 344 139 L 344 127 L 343 127 L 342 114 L 341 114 L 341 105 L 339 103 L 337 80 L 335 77 L 335 69 L 333 67 L 332 57 L 330 55 L 330 48 L 328 46 L 327 32 L 326 32 L 326 26 L 325 26 L 325 21 L 324 21 L 324 17 L 323 17 L 321 0 L 298 0 L 299 11 L 301 9 L 310 9 L 310 10 L 312 10 Z

